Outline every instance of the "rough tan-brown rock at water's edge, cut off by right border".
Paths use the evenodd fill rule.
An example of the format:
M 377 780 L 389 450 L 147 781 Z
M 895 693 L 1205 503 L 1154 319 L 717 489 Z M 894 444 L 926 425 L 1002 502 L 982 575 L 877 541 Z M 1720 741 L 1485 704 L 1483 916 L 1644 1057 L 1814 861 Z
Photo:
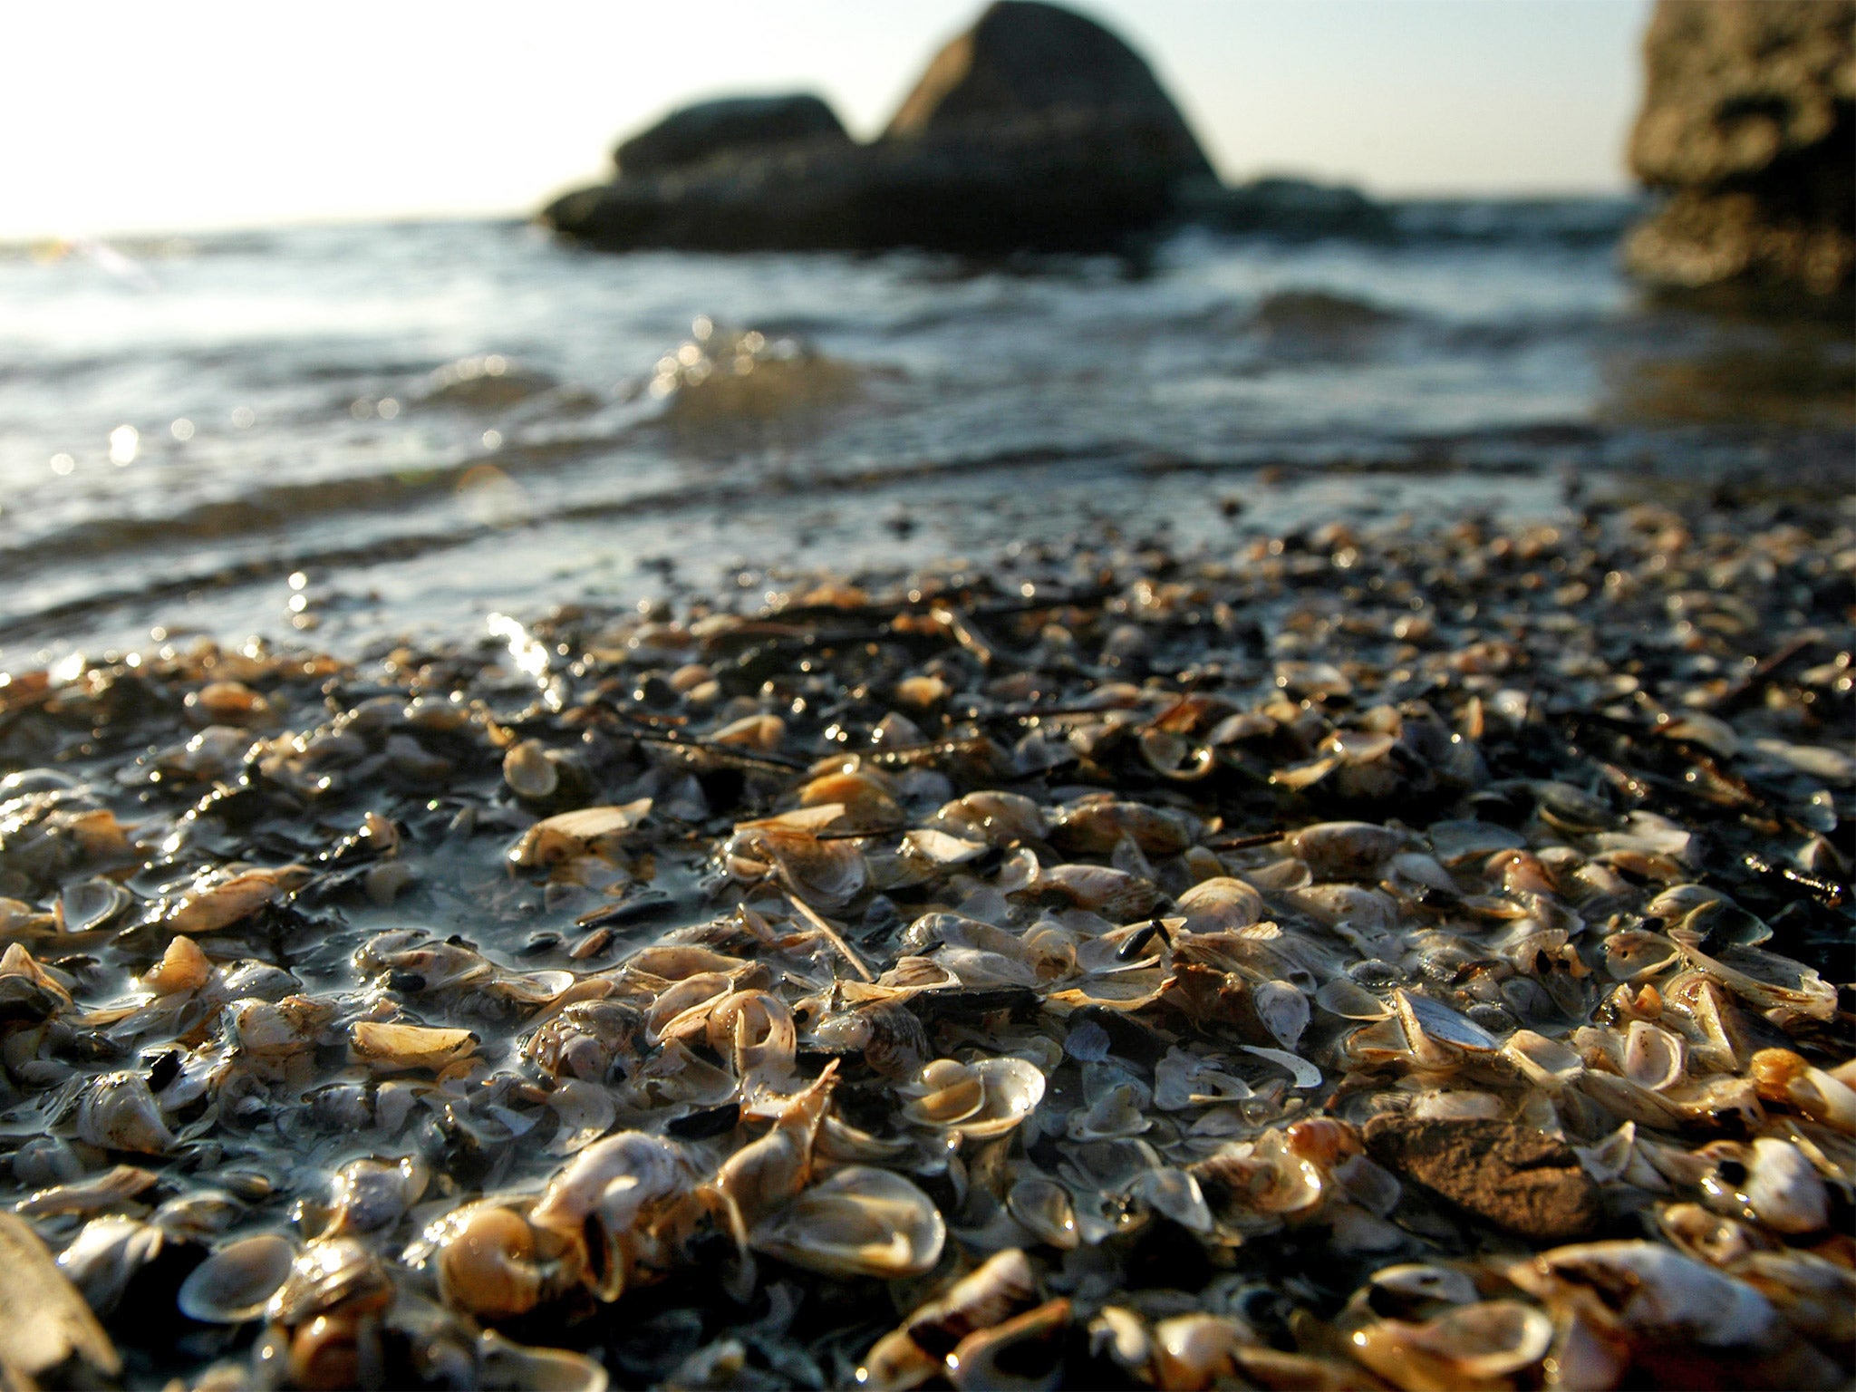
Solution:
M 1628 238 L 1644 280 L 1849 293 L 1856 278 L 1856 4 L 1659 0 L 1631 134 L 1670 197 Z

